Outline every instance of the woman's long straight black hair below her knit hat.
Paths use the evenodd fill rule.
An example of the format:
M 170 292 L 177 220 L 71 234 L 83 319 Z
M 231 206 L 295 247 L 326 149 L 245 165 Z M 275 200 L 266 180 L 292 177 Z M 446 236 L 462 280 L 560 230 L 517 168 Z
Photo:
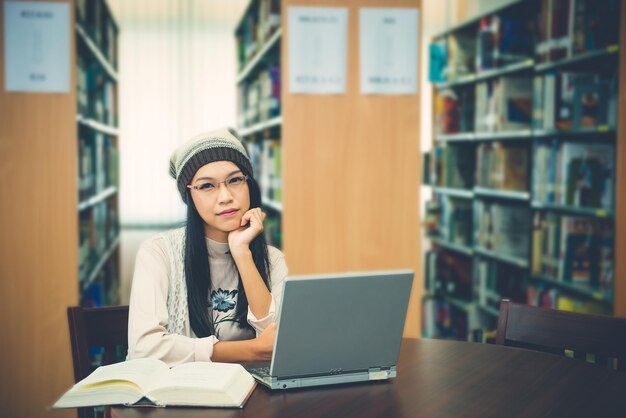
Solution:
M 250 191 L 250 209 L 261 207 L 261 189 L 250 173 L 237 165 L 248 176 Z M 209 253 L 204 236 L 204 221 L 196 209 L 191 192 L 187 196 L 187 223 L 185 227 L 185 281 L 187 283 L 187 306 L 191 329 L 197 337 L 215 335 L 213 315 L 209 312 L 209 290 L 211 289 L 211 270 L 209 268 Z M 267 253 L 267 243 L 263 233 L 257 235 L 250 243 L 250 252 L 263 282 L 270 288 L 270 262 Z M 248 298 L 243 289 L 241 276 L 238 284 L 237 309 L 235 320 L 240 328 L 252 329 L 246 320 L 248 315 Z

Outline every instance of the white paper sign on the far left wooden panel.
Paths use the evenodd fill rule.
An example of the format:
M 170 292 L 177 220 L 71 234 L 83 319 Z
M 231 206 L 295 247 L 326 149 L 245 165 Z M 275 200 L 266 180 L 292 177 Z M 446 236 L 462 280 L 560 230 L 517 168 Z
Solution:
M 5 90 L 68 93 L 69 4 L 3 3 Z

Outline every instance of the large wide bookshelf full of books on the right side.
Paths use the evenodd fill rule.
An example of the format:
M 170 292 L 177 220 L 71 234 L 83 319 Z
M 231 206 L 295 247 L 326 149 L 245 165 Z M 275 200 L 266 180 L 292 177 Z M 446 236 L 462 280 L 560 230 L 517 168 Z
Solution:
M 423 336 L 484 340 L 501 298 L 626 314 L 626 4 L 606 6 L 515 1 L 433 37 Z

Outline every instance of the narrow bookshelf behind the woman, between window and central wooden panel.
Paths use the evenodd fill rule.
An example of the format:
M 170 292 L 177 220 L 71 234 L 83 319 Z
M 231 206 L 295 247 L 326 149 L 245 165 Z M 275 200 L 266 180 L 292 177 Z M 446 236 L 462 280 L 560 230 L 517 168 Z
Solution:
M 282 247 L 281 13 L 279 0 L 250 1 L 235 29 L 238 132 L 250 153 L 267 215 L 268 244 Z

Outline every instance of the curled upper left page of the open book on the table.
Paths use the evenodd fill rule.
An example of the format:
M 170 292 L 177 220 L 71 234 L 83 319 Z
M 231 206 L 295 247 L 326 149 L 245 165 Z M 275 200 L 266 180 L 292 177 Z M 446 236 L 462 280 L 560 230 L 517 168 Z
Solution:
M 80 386 L 94 386 L 107 381 L 127 380 L 135 383 L 143 392 L 152 382 L 168 371 L 167 365 L 160 360 L 151 358 L 128 360 L 99 367 L 83 379 Z

